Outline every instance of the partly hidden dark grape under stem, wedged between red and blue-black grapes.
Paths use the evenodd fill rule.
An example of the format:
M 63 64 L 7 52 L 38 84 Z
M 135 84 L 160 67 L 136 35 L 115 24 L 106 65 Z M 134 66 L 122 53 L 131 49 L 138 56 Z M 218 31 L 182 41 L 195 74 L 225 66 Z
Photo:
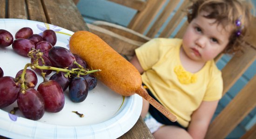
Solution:
M 55 73 L 53 76 L 50 77 L 49 80 L 54 80 L 58 82 L 63 91 L 65 91 L 68 87 L 70 78 L 66 78 L 64 72 Z

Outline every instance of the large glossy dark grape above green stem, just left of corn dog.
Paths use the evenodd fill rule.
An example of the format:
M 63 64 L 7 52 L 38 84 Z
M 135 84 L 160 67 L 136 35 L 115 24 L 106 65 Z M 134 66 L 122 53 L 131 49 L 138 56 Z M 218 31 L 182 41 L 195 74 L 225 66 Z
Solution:
M 54 46 L 48 52 L 48 57 L 54 67 L 70 67 L 73 65 L 74 55 L 64 47 Z

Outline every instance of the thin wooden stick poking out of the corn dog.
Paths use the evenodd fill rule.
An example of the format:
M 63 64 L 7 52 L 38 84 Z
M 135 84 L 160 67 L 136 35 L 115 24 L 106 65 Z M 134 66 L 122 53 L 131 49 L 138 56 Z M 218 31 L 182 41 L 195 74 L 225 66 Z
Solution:
M 176 116 L 171 114 L 165 107 L 158 103 L 154 98 L 152 98 L 148 93 L 141 87 L 135 91 L 136 94 L 147 100 L 152 106 L 154 106 L 159 112 L 161 112 L 165 117 L 167 117 L 172 122 L 177 120 Z

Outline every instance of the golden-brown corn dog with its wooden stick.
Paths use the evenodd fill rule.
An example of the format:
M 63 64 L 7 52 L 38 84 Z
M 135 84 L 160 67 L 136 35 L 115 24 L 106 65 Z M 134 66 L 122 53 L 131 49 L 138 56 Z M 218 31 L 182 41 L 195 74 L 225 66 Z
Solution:
M 136 93 L 149 101 L 169 120 L 176 121 L 175 115 L 141 88 L 139 71 L 97 35 L 87 31 L 75 32 L 69 40 L 69 47 L 72 53 L 81 56 L 87 62 L 90 69 L 101 69 L 95 76 L 108 88 L 124 96 Z

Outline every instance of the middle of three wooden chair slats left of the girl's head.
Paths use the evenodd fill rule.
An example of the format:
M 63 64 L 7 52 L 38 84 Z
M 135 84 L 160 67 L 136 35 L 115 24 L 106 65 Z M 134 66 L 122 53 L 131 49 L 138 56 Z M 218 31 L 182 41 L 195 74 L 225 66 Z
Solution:
M 158 16 L 155 23 L 150 27 L 146 36 L 154 38 L 155 34 L 160 30 L 164 22 L 168 19 L 170 14 L 174 11 L 175 7 L 179 4 L 180 0 L 170 0 L 163 9 L 162 13 Z

